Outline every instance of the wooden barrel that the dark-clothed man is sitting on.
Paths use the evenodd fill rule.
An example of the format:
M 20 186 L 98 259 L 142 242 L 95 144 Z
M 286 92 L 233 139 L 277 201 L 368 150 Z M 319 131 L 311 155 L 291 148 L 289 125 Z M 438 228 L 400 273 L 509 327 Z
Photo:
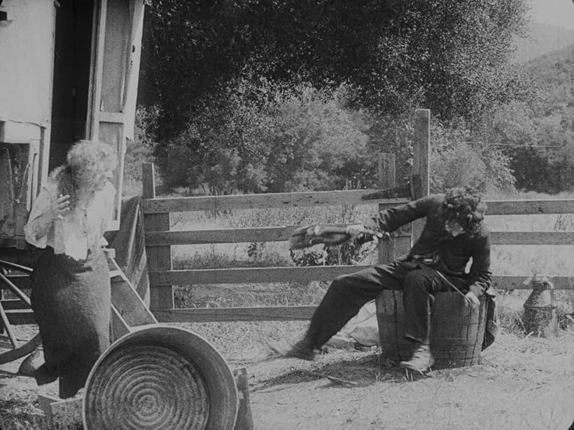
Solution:
M 433 368 L 472 366 L 478 362 L 486 327 L 486 301 L 482 296 L 475 310 L 464 302 L 458 292 L 435 295 L 430 330 Z M 382 354 L 397 362 L 409 359 L 412 342 L 404 337 L 402 291 L 384 290 L 376 304 Z

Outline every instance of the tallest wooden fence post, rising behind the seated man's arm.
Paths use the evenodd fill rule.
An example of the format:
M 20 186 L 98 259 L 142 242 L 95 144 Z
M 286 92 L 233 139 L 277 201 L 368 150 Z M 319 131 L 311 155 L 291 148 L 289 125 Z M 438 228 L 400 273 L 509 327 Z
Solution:
M 413 196 L 420 199 L 430 194 L 430 109 L 414 111 L 414 141 L 412 145 L 412 173 L 421 175 L 421 195 Z M 412 241 L 421 236 L 425 220 L 412 223 Z

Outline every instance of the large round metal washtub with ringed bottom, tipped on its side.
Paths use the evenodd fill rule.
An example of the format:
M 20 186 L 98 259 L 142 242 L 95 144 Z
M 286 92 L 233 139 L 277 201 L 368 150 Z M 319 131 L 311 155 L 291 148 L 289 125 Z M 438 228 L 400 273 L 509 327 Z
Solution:
M 137 327 L 90 371 L 83 399 L 87 430 L 232 430 L 235 378 L 201 336 L 164 325 Z

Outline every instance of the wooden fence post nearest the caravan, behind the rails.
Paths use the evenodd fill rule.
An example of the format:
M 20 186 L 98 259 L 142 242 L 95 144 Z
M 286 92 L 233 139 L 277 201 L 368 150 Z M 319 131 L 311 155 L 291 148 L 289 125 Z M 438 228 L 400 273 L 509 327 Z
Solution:
M 142 165 L 144 199 L 155 199 L 155 169 L 153 163 Z M 150 213 L 144 215 L 145 231 L 169 231 L 169 213 Z M 149 271 L 172 270 L 172 247 L 146 247 Z M 150 285 L 150 309 L 174 308 L 173 285 Z

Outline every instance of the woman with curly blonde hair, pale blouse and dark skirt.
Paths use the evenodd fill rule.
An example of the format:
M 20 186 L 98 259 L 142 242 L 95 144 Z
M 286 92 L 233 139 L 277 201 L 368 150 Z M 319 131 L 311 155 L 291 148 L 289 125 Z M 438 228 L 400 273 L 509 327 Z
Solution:
M 80 141 L 54 169 L 34 201 L 25 236 L 41 248 L 32 275 L 31 305 L 43 343 L 22 373 L 38 385 L 59 378 L 59 395 L 74 396 L 109 346 L 111 292 L 102 245 L 113 217 L 111 183 L 118 158 L 106 143 Z

